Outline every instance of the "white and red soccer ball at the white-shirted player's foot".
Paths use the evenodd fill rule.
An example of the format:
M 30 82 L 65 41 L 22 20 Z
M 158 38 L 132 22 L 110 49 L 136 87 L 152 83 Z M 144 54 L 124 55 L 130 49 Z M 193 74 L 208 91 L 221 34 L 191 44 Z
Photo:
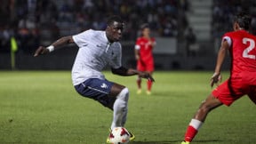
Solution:
M 124 127 L 114 128 L 109 135 L 112 144 L 126 144 L 130 141 L 130 134 Z

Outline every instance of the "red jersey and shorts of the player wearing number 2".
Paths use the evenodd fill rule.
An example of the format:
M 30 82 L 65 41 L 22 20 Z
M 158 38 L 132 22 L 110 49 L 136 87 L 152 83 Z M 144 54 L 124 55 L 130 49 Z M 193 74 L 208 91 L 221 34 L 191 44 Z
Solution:
M 256 36 L 245 30 L 226 33 L 231 56 L 230 77 L 212 91 L 229 106 L 245 94 L 256 104 Z

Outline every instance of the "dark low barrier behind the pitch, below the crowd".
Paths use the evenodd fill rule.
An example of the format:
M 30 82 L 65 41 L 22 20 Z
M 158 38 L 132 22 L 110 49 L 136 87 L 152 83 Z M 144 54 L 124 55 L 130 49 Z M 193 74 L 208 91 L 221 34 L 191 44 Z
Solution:
M 76 58 L 76 45 L 63 47 L 47 55 L 34 57 L 33 53 L 16 52 L 16 69 L 71 69 Z M 123 65 L 136 68 L 133 45 L 123 46 Z M 213 70 L 214 56 L 186 57 L 178 54 L 154 54 L 156 70 Z M 228 69 L 229 60 L 223 68 Z M 11 69 L 10 53 L 0 53 L 0 69 Z

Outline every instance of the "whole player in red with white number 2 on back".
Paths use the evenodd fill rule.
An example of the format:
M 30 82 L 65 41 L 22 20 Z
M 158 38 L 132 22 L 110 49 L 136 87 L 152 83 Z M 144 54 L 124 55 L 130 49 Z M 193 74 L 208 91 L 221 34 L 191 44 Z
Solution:
M 233 21 L 233 32 L 222 37 L 215 72 L 211 78 L 211 86 L 220 79 L 220 68 L 227 52 L 231 56 L 230 76 L 220 84 L 203 101 L 196 115 L 192 118 L 181 144 L 189 144 L 204 123 L 207 114 L 221 105 L 230 106 L 244 95 L 256 104 L 256 36 L 249 34 L 251 17 L 245 12 L 236 15 Z

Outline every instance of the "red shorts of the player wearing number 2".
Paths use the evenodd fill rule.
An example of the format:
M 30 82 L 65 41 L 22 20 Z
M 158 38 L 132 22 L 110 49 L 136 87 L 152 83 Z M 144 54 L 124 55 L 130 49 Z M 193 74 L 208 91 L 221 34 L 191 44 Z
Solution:
M 232 76 L 212 91 L 212 95 L 227 106 L 245 94 L 256 104 L 256 73 L 243 72 Z

